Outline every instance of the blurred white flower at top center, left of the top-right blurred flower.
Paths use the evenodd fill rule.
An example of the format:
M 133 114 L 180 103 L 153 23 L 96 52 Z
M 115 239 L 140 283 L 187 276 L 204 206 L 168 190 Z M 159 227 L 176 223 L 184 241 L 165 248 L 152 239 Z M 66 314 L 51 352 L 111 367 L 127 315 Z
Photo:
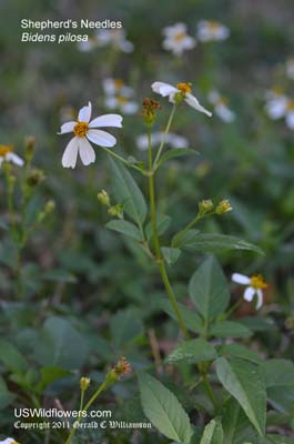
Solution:
M 162 32 L 164 34 L 162 47 L 168 51 L 172 51 L 175 56 L 181 56 L 185 50 L 196 46 L 195 39 L 187 36 L 184 23 L 175 23 L 163 28 Z

